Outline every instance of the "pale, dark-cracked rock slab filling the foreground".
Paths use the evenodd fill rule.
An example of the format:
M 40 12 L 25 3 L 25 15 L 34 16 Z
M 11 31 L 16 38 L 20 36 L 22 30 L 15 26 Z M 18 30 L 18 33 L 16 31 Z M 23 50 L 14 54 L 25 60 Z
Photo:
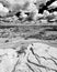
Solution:
M 0 72 L 57 72 L 57 48 L 37 42 L 0 49 Z

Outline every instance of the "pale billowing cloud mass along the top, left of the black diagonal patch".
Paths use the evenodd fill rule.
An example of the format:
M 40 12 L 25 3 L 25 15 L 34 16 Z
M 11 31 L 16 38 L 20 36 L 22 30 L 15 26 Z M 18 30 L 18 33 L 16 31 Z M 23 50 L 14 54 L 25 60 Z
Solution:
M 0 11 L 3 12 L 10 11 L 14 13 L 19 12 L 20 10 L 23 10 L 23 14 L 25 14 L 25 12 L 33 12 L 35 18 L 37 18 L 39 4 L 46 3 L 46 1 L 48 0 L 0 0 L 0 1 L 2 2 L 2 4 L 0 6 L 1 8 Z M 9 3 L 9 6 L 7 3 Z

